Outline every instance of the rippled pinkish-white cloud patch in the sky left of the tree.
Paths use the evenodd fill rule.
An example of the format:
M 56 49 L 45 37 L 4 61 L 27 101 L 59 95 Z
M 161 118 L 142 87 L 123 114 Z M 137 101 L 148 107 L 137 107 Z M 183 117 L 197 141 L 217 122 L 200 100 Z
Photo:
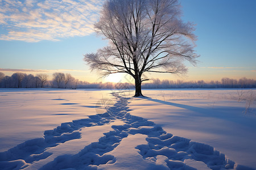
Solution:
M 38 42 L 94 32 L 103 0 L 2 0 L 0 40 Z

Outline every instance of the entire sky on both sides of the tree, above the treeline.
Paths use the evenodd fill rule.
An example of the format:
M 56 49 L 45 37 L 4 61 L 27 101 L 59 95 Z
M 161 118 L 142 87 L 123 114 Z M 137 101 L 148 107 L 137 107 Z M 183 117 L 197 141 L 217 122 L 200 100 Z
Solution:
M 199 63 L 185 76 L 146 74 L 168 80 L 256 79 L 256 1 L 181 0 L 184 22 L 195 24 Z M 124 75 L 101 79 L 84 54 L 108 44 L 94 32 L 102 0 L 0 0 L 0 72 L 11 75 L 70 73 L 87 82 L 129 82 Z M 132 82 L 133 83 L 133 82 Z

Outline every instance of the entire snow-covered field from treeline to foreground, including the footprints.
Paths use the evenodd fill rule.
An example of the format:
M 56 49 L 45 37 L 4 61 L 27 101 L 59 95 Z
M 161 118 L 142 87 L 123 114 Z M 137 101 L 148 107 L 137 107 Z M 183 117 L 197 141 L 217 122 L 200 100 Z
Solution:
M 0 89 L 0 169 L 255 169 L 256 90 Z

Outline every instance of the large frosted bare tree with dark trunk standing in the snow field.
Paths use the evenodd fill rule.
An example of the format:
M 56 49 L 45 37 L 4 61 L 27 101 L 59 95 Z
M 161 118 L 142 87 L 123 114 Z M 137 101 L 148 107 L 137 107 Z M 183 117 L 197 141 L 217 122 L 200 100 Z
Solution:
M 177 0 L 107 0 L 95 28 L 109 46 L 85 54 L 84 61 L 103 76 L 131 75 L 134 96 L 143 96 L 141 83 L 148 80 L 143 73 L 185 74 L 184 60 L 196 64 L 195 28 L 180 15 Z

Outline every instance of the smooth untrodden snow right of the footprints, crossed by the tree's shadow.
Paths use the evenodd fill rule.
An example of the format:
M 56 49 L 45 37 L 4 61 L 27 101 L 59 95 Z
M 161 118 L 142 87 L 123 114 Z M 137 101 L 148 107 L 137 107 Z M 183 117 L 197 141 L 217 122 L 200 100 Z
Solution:
M 245 114 L 246 101 L 237 101 L 237 90 L 148 90 L 144 95 L 150 98 L 133 98 L 131 114 L 143 115 L 174 135 L 210 145 L 238 165 L 256 167 L 255 96 Z

